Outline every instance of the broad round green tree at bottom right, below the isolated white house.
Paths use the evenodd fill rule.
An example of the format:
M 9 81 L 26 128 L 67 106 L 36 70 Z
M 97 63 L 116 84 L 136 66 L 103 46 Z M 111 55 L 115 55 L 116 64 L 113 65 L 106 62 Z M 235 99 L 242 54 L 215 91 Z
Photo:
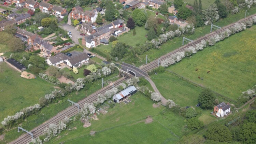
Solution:
M 213 124 L 208 126 L 205 136 L 207 139 L 214 140 L 216 142 L 232 141 L 232 133 L 230 132 L 230 130 L 226 126 L 218 122 L 214 122 Z

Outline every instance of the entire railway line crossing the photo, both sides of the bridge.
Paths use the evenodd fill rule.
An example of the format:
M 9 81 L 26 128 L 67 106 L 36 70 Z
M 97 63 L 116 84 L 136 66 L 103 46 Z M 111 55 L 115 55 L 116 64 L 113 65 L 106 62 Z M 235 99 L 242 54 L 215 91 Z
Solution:
M 255 15 L 252 15 L 252 16 L 249 16 L 249 17 L 247 17 L 247 18 L 241 19 L 241 20 L 239 20 L 239 21 L 237 21 L 237 22 L 235 22 L 235 23 L 232 23 L 232 24 L 230 24 L 230 25 L 228 25 L 228 26 L 223 27 L 222 29 L 219 29 L 219 30 L 214 31 L 214 32 L 212 32 L 212 33 L 210 33 L 210 34 L 204 35 L 203 37 L 200 37 L 200 38 L 198 38 L 197 40 L 195 40 L 195 41 L 193 41 L 193 42 L 191 42 L 191 43 L 188 43 L 188 44 L 186 44 L 186 45 L 184 45 L 184 46 L 182 46 L 182 47 L 180 47 L 180 48 L 178 48 L 178 49 L 175 49 L 174 51 L 172 51 L 172 52 L 170 52 L 170 53 L 168 53 L 168 54 L 166 54 L 166 55 L 161 56 L 161 57 L 160 57 L 160 61 L 161 61 L 161 60 L 164 60 L 164 59 L 166 59 L 166 58 L 168 58 L 168 57 L 170 57 L 170 56 L 171 56 L 172 54 L 174 54 L 174 53 L 183 51 L 185 48 L 187 48 L 187 47 L 189 47 L 189 46 L 194 46 L 194 45 L 200 43 L 201 40 L 207 40 L 207 39 L 211 38 L 213 35 L 215 35 L 215 34 L 217 34 L 217 33 L 219 33 L 219 32 L 225 31 L 226 29 L 228 29 L 228 28 L 234 26 L 236 23 L 242 23 L 242 22 L 244 22 L 244 21 L 246 21 L 246 20 L 252 18 L 253 16 L 256 16 L 256 14 L 255 14 Z M 154 60 L 154 61 L 152 61 L 152 62 L 150 62 L 150 63 L 148 63 L 148 64 L 142 66 L 140 69 L 141 69 L 142 71 L 144 71 L 144 72 L 148 72 L 148 71 L 150 71 L 151 69 L 154 69 L 154 68 L 156 68 L 156 67 L 158 67 L 158 60 Z M 118 85 L 119 83 L 122 83 L 122 82 L 123 82 L 124 80 L 126 80 L 127 78 L 128 78 L 128 77 L 120 78 L 119 80 L 117 80 L 117 81 L 115 82 L 115 85 Z M 98 95 L 98 94 L 103 93 L 103 92 L 105 92 L 106 90 L 111 89 L 111 87 L 112 87 L 112 86 L 110 86 L 110 85 L 109 85 L 109 86 L 106 86 L 105 88 L 96 91 L 95 93 L 89 95 L 87 98 L 85 98 L 85 99 L 83 99 L 83 100 L 81 100 L 81 101 L 79 101 L 79 102 L 77 102 L 77 103 L 79 103 L 79 105 L 83 105 L 84 103 L 91 103 L 91 102 L 94 102 L 94 101 L 97 99 L 97 95 Z M 40 125 L 40 126 L 34 128 L 34 129 L 32 129 L 30 132 L 33 133 L 34 138 L 37 138 L 39 135 L 41 135 L 41 134 L 43 133 L 43 129 L 46 128 L 46 127 L 48 127 L 49 124 L 57 123 L 58 121 L 60 121 L 60 120 L 62 120 L 63 118 L 65 118 L 66 116 L 67 116 L 67 117 L 72 117 L 72 116 L 74 116 L 74 115 L 76 115 L 76 114 L 77 114 L 77 107 L 75 107 L 75 106 L 70 106 L 70 107 L 68 107 L 66 110 L 61 111 L 61 112 L 58 113 L 56 116 L 54 116 L 54 117 L 52 117 L 51 119 L 45 121 L 45 123 L 43 123 L 42 125 Z M 23 134 L 22 136 L 20 136 L 20 137 L 19 137 L 18 139 L 16 139 L 15 141 L 10 142 L 10 143 L 11 143 L 11 144 L 24 144 L 24 143 L 29 143 L 30 141 L 31 141 L 31 136 L 26 133 L 26 134 Z

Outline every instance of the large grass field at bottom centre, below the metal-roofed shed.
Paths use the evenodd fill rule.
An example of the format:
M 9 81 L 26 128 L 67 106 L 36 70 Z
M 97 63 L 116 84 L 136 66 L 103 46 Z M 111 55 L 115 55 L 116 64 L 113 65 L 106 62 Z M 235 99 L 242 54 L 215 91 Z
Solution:
M 116 104 L 107 114 L 97 115 L 99 120 L 91 120 L 88 128 L 74 122 L 68 128 L 76 130 L 66 130 L 49 143 L 174 143 L 183 135 L 185 118 L 163 106 L 154 108 L 154 102 L 139 92 L 129 99 L 132 102 Z M 147 116 L 152 123 L 145 124 Z M 90 131 L 96 131 L 95 135 Z

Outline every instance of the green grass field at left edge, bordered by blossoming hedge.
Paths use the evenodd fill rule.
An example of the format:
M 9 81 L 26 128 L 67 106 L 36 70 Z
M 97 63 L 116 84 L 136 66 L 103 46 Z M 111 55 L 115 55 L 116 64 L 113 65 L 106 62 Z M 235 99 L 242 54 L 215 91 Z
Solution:
M 0 121 L 38 103 L 54 86 L 39 77 L 30 80 L 20 77 L 20 72 L 5 62 L 0 63 L 0 80 Z

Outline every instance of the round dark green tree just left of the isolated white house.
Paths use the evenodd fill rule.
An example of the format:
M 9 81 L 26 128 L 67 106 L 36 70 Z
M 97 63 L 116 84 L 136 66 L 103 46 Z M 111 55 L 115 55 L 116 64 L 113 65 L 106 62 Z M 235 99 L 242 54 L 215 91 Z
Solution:
M 198 102 L 202 108 L 212 109 L 215 103 L 215 97 L 212 91 L 210 89 L 204 89 L 198 97 Z

